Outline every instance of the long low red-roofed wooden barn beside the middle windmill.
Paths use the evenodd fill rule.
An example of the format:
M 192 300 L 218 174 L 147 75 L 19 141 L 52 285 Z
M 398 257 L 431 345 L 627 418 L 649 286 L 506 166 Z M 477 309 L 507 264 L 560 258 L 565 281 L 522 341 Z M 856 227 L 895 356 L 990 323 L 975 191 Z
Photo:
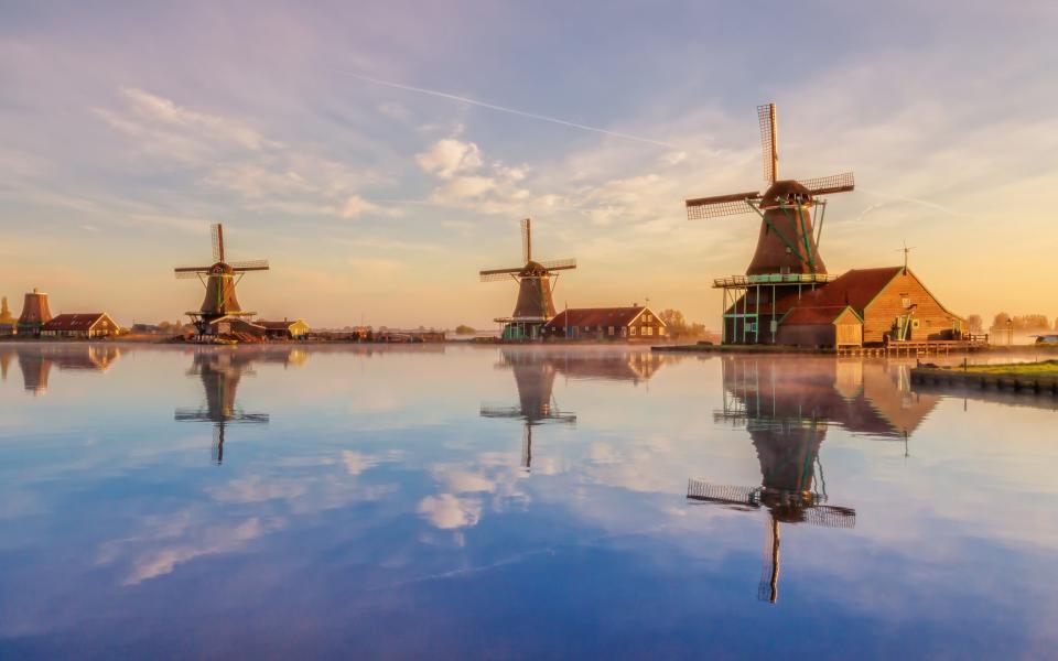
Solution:
M 543 325 L 544 338 L 593 340 L 657 340 L 665 322 L 649 307 L 570 307 Z

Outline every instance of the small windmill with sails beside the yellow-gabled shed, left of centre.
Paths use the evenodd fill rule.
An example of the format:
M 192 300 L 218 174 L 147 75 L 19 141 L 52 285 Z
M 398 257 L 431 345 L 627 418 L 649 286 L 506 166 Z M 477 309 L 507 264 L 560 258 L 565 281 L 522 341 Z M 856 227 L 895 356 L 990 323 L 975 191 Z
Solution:
M 174 269 L 177 279 L 197 278 L 206 288 L 206 296 L 197 312 L 188 312 L 199 335 L 210 333 L 210 324 L 222 317 L 248 317 L 255 312 L 247 312 L 235 297 L 235 286 L 242 277 L 250 271 L 268 271 L 268 260 L 233 261 L 225 259 L 224 226 L 219 223 L 213 226 L 213 264 L 208 267 L 177 267 Z

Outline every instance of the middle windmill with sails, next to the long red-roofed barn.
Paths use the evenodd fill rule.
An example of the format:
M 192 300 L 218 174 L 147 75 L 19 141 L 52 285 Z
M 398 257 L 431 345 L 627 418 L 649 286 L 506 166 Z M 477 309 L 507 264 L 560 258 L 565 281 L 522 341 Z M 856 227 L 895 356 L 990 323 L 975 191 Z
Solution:
M 554 316 L 551 279 L 558 279 L 558 271 L 576 268 L 575 259 L 533 261 L 532 226 L 529 218 L 521 221 L 521 249 L 523 266 L 479 272 L 482 282 L 511 279 L 518 283 L 518 302 L 515 304 L 514 314 L 495 319 L 505 324 L 505 339 L 539 337 L 541 326 Z

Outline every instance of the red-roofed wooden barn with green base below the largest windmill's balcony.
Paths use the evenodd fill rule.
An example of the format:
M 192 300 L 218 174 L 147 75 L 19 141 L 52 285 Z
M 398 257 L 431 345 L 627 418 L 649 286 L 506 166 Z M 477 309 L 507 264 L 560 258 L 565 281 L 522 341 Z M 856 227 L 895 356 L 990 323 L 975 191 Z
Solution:
M 724 313 L 725 342 L 877 346 L 962 337 L 952 313 L 905 267 L 853 269 L 810 288 L 751 288 Z

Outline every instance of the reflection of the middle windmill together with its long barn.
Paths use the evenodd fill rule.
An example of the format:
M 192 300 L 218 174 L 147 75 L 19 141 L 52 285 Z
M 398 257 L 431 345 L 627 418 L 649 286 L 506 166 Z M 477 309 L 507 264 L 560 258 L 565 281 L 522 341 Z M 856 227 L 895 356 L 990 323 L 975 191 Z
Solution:
M 483 418 L 510 418 L 523 422 L 521 467 L 529 470 L 532 468 L 533 427 L 548 422 L 576 422 L 575 414 L 561 411 L 555 402 L 555 377 L 638 384 L 654 377 L 667 359 L 650 351 L 504 349 L 497 367 L 515 372 L 519 403 L 517 407 L 483 404 L 481 414 Z

